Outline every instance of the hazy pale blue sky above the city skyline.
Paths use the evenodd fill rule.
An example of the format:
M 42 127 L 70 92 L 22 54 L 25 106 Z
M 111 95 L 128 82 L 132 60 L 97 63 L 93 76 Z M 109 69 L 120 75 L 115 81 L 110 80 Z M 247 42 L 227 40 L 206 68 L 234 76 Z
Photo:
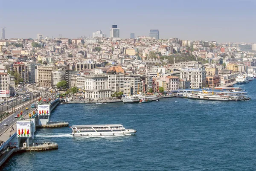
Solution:
M 112 24 L 121 38 L 148 36 L 218 42 L 256 42 L 256 0 L 0 0 L 6 38 L 77 38 Z

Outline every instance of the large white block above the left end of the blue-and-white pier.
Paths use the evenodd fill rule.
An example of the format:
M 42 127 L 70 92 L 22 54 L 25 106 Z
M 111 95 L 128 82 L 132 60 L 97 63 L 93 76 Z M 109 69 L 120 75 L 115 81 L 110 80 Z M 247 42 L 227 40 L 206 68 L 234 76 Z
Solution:
M 190 87 L 199 89 L 206 85 L 206 72 L 203 68 L 183 68 L 180 70 L 180 79 L 190 81 Z

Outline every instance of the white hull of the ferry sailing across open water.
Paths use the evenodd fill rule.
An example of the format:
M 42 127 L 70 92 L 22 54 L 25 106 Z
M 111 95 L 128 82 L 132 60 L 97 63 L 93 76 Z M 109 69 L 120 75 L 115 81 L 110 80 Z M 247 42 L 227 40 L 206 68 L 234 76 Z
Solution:
M 72 136 L 88 136 L 88 137 L 100 137 L 100 136 L 123 136 L 123 135 L 134 135 L 137 130 L 125 129 L 125 131 L 114 131 L 114 132 L 83 132 L 83 133 L 72 133 Z

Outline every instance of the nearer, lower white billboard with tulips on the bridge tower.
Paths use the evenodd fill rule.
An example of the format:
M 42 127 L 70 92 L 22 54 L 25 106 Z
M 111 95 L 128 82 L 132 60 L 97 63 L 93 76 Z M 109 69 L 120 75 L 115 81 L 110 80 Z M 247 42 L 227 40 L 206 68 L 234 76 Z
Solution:
M 17 121 L 17 136 L 31 137 L 31 121 Z

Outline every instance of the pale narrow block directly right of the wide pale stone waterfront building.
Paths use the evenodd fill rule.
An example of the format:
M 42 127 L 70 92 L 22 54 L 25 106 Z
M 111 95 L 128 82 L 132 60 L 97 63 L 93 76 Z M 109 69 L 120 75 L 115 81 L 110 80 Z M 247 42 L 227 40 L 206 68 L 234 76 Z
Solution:
M 111 93 L 124 91 L 124 74 L 109 74 L 108 75 L 108 88 Z

